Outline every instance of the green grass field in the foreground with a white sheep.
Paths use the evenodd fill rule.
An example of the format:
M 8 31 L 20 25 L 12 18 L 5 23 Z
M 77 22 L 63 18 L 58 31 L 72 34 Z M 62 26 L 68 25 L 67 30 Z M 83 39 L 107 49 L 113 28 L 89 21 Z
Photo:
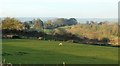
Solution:
M 12 64 L 117 64 L 118 48 L 60 41 L 3 39 L 3 59 Z

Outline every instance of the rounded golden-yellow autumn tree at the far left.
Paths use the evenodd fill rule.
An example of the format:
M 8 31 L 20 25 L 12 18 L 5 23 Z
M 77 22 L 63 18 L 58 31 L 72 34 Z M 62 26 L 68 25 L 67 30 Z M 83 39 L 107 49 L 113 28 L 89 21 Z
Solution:
M 15 18 L 6 17 L 4 20 L 2 20 L 2 29 L 22 30 L 23 24 Z

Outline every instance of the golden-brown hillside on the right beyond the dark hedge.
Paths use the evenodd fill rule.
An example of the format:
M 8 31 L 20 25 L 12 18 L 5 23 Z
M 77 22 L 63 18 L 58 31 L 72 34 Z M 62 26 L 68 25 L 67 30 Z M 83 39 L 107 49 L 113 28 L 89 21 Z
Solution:
M 118 25 L 116 23 L 106 23 L 101 25 L 78 24 L 65 27 L 64 29 L 69 33 L 83 36 L 91 40 L 96 39 L 102 41 L 103 39 L 108 39 L 108 44 L 119 45 L 118 41 L 120 41 L 120 39 L 118 38 Z

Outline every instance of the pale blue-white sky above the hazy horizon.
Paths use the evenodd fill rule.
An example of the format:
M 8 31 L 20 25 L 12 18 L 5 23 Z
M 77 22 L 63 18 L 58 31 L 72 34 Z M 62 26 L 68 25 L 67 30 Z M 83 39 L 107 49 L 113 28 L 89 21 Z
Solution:
M 117 18 L 119 0 L 0 0 L 0 17 Z

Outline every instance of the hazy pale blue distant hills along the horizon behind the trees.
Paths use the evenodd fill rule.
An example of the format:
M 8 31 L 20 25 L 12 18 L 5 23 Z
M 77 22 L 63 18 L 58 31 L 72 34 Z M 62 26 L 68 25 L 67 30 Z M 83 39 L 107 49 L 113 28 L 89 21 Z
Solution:
M 40 18 L 43 22 L 46 22 L 47 20 L 54 20 L 57 17 L 15 17 L 21 22 L 25 21 L 32 21 L 33 19 Z M 0 21 L 3 20 L 4 17 L 0 17 Z M 87 21 L 94 21 L 94 22 L 118 22 L 117 18 L 76 18 L 79 23 L 86 23 Z

